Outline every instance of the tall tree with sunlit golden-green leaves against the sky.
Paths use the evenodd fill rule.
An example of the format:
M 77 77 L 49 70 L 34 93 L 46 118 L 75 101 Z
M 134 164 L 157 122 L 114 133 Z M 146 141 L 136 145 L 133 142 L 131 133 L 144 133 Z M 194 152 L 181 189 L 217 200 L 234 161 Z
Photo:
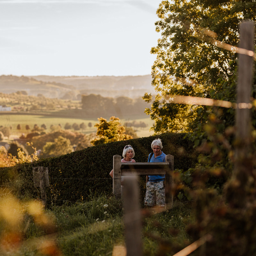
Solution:
M 237 46 L 238 24 L 244 19 L 256 20 L 256 2 L 251 0 L 174 0 L 162 1 L 157 10 L 161 33 L 152 66 L 152 85 L 158 93 L 146 113 L 155 120 L 153 130 L 188 132 L 196 128 L 197 106 L 172 104 L 172 95 L 211 97 L 218 91 L 216 81 L 231 74 L 228 63 L 234 53 L 224 49 Z M 225 44 L 223 44 L 225 43 Z

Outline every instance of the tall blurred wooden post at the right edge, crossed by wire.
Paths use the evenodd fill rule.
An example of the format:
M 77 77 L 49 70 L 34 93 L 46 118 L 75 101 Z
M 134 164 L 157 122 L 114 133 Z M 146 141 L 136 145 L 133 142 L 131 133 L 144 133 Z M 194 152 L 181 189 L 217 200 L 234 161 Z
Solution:
M 254 22 L 240 24 L 239 47 L 254 51 Z M 235 164 L 227 200 L 236 207 L 244 207 L 248 194 L 248 179 L 252 175 L 251 151 L 251 116 L 250 95 L 253 75 L 252 56 L 238 55 L 237 108 L 236 108 L 236 141 Z

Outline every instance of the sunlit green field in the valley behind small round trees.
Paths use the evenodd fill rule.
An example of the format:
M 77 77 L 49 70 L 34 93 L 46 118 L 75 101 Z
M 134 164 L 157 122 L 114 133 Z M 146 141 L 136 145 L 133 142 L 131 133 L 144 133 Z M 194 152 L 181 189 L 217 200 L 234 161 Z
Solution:
M 141 119 L 122 119 L 121 123 L 124 124 L 125 122 L 131 122 L 131 121 L 137 121 L 137 122 L 144 122 L 148 126 L 146 128 L 134 128 L 136 130 L 136 133 L 138 137 L 147 137 L 153 134 L 153 132 L 149 131 L 149 128 L 152 126 L 153 121 L 147 117 L 147 118 L 141 118 Z M 86 124 L 87 128 L 83 130 L 84 133 L 92 133 L 96 132 L 96 128 L 94 127 L 94 124 L 98 122 L 97 118 L 70 118 L 70 117 L 56 117 L 56 116 L 50 116 L 50 115 L 29 115 L 29 114 L 2 114 L 0 115 L 0 125 L 2 126 L 12 126 L 12 134 L 20 134 L 20 133 L 28 133 L 30 130 L 26 130 L 25 126 L 28 124 L 31 129 L 33 129 L 34 125 L 37 124 L 39 127 L 42 124 L 45 124 L 47 127 L 46 132 L 50 131 L 51 125 L 58 125 L 60 124 L 61 127 L 64 127 L 66 123 L 69 124 Z M 92 127 L 90 128 L 88 126 L 89 123 L 92 123 Z M 17 130 L 17 125 L 20 124 L 21 130 Z M 81 132 L 81 131 L 80 131 Z

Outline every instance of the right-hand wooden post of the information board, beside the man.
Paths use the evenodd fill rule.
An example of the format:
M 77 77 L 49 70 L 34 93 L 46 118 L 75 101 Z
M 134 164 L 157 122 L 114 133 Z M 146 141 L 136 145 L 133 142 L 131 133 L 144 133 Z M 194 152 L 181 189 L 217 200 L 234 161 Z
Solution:
M 165 156 L 165 162 L 169 163 L 169 169 L 165 174 L 165 204 L 166 209 L 173 206 L 173 170 L 174 170 L 174 156 Z

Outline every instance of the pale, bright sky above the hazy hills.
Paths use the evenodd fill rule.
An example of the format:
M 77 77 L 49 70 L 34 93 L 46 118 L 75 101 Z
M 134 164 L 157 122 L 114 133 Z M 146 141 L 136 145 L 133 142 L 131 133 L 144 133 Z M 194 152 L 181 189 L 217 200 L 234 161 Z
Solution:
M 148 75 L 160 3 L 0 0 L 0 75 Z

